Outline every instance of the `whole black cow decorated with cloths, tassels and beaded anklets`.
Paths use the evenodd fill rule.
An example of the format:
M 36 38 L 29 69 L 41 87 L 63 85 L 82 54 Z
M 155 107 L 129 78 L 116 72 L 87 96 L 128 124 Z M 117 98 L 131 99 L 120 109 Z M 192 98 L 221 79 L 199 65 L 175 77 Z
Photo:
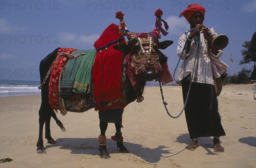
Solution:
M 94 43 L 95 49 L 77 50 L 57 48 L 40 63 L 41 107 L 39 110 L 39 138 L 37 152 L 46 153 L 43 143 L 43 126 L 48 143 L 56 143 L 50 133 L 50 119 L 55 119 L 62 131 L 65 128 L 55 111 L 85 112 L 94 108 L 99 113 L 100 157 L 110 157 L 106 148 L 105 132 L 108 123 L 114 123 L 116 141 L 122 153 L 122 113 L 129 103 L 143 101 L 146 81 L 158 80 L 162 84 L 173 81 L 168 70 L 167 57 L 159 50 L 172 45 L 172 41 L 159 42 L 162 28 L 161 15 L 155 12 L 155 29 L 148 33 L 128 31 L 121 11 L 116 13 L 120 25 L 111 24 Z M 164 27 L 168 25 L 164 22 Z M 127 36 L 128 41 L 125 40 Z

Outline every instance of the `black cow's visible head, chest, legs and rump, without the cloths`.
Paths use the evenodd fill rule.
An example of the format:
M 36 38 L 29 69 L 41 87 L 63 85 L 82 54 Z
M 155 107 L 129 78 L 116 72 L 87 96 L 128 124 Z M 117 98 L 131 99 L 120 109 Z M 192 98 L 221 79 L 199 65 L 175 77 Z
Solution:
M 152 81 L 154 79 L 157 79 L 159 76 L 159 73 L 161 72 L 161 64 L 165 63 L 167 61 L 166 56 L 163 55 L 163 53 L 160 52 L 159 49 L 166 49 L 169 45 L 172 45 L 172 41 L 164 41 L 159 42 L 158 37 L 155 33 L 129 33 L 129 41 L 128 45 L 126 44 L 117 44 L 113 48 L 116 50 L 119 50 L 123 53 L 125 53 L 125 59 L 129 62 L 129 64 L 125 64 L 124 67 L 126 68 L 126 72 L 130 70 L 130 73 L 133 74 L 126 74 L 126 80 L 128 84 L 128 92 L 127 94 L 127 104 L 136 100 L 140 102 L 143 100 L 143 88 L 145 86 L 146 81 Z M 44 144 L 43 144 L 43 126 L 45 123 L 45 138 L 47 139 L 48 143 L 56 143 L 55 140 L 53 140 L 50 132 L 50 120 L 51 117 L 55 119 L 57 125 L 61 128 L 62 131 L 65 131 L 65 128 L 60 120 L 58 120 L 54 110 L 51 108 L 49 104 L 49 77 L 46 81 L 44 81 L 45 77 L 47 76 L 47 72 L 50 69 L 52 63 L 56 59 L 56 55 L 58 53 L 58 50 L 60 48 L 56 48 L 52 53 L 50 53 L 48 56 L 46 56 L 40 63 L 40 76 L 41 76 L 41 82 L 45 82 L 44 86 L 41 88 L 41 107 L 39 110 L 39 138 L 37 143 L 37 152 L 38 153 L 46 153 Z M 129 66 L 133 66 L 132 68 Z M 136 70 L 131 70 L 137 68 Z M 50 74 L 49 74 L 50 75 Z M 49 76 L 48 75 L 48 76 Z M 131 77 L 133 76 L 133 77 Z M 134 81 L 134 79 L 139 82 L 138 86 L 134 86 L 131 84 L 131 80 Z M 115 113 L 119 114 L 119 118 L 122 121 L 122 112 L 123 108 L 116 109 L 108 109 L 108 112 L 110 114 Z M 100 115 L 99 111 L 99 115 Z M 107 114 L 107 113 L 105 113 Z M 103 116 L 104 117 L 104 116 Z M 105 132 L 108 127 L 108 122 L 102 121 L 100 119 L 99 122 L 100 127 L 100 136 L 99 136 L 99 151 L 100 156 L 102 158 L 108 158 L 110 157 L 107 148 L 106 148 L 106 136 Z M 123 138 L 122 138 L 122 132 L 121 127 L 122 124 L 115 123 L 116 127 L 116 134 L 113 136 L 113 140 L 116 141 L 117 147 L 119 148 L 119 151 L 122 153 L 128 153 L 128 150 L 123 145 Z

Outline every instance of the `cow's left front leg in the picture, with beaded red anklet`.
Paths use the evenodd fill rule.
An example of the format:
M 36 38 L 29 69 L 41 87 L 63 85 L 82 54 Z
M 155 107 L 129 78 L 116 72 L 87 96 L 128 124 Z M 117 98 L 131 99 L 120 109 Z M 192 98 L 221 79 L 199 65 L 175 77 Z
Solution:
M 100 151 L 100 157 L 101 158 L 109 158 L 110 155 L 108 153 L 108 150 L 107 150 L 107 140 L 106 140 L 106 131 L 107 131 L 107 128 L 108 128 L 108 123 L 104 123 L 102 121 L 99 121 L 99 128 L 100 128 L 100 135 L 98 137 L 98 140 L 99 140 L 99 151 Z

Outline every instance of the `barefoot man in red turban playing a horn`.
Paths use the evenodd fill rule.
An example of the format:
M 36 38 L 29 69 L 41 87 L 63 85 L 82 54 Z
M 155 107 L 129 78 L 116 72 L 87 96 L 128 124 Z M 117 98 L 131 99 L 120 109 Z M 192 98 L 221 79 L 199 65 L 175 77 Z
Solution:
M 182 86 L 184 104 L 189 94 L 185 116 L 192 143 L 186 146 L 186 149 L 194 151 L 199 146 L 198 137 L 213 136 L 214 151 L 224 152 L 219 137 L 224 136 L 225 132 L 218 112 L 214 78 L 219 77 L 227 69 L 227 64 L 218 60 L 223 51 L 215 50 L 211 45 L 212 37 L 207 34 L 209 29 L 203 25 L 204 14 L 205 8 L 198 4 L 189 5 L 180 14 L 180 17 L 186 18 L 193 30 L 186 32 L 179 39 L 177 55 L 184 61 L 176 82 Z M 215 34 L 213 29 L 211 31 Z M 221 64 L 217 75 L 212 69 L 211 57 Z

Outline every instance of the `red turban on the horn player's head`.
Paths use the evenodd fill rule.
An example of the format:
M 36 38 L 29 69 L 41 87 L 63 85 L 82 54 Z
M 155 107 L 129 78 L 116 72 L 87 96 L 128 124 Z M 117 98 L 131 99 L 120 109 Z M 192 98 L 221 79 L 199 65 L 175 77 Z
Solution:
M 180 12 L 180 17 L 183 16 L 189 22 L 192 15 L 196 12 L 201 12 L 203 15 L 205 13 L 205 8 L 198 4 L 190 4 L 187 9 Z

